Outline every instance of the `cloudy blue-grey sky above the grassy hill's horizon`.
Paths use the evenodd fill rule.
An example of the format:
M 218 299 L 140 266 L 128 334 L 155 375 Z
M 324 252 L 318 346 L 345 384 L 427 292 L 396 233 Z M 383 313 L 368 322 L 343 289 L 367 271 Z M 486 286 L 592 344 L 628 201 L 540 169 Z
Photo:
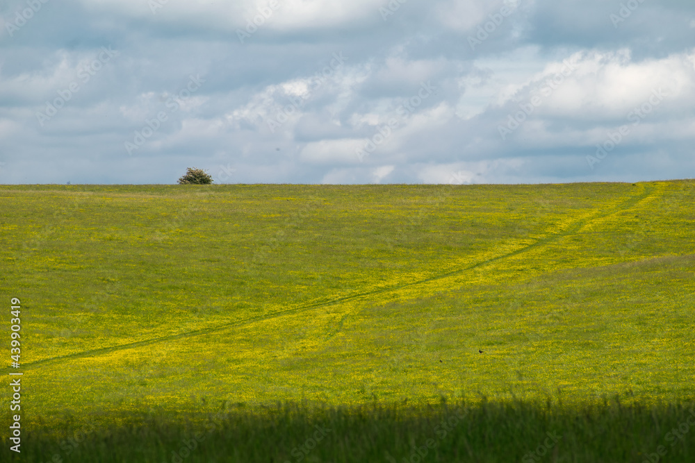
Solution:
M 695 177 L 692 0 L 0 1 L 0 183 Z

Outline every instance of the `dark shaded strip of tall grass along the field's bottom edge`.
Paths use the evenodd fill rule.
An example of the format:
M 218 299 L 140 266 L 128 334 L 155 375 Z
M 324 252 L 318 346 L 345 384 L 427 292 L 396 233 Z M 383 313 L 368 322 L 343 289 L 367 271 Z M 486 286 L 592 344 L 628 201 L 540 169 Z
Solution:
M 104 423 L 105 417 L 99 417 Z M 693 462 L 692 404 L 553 403 L 309 407 L 218 414 L 65 417 L 25 429 L 22 462 Z M 97 418 L 95 417 L 95 421 Z M 8 451 L 3 442 L 3 453 Z M 15 457 L 15 455 L 11 455 Z

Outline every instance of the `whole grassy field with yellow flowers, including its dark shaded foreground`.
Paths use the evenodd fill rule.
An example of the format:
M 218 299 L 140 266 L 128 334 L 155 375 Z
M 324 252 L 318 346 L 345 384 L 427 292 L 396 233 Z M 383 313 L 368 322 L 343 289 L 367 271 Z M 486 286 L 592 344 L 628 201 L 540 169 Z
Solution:
M 694 200 L 692 180 L 0 185 L 22 461 L 161 462 L 222 410 L 185 461 L 295 462 L 325 420 L 304 461 L 400 463 L 443 398 L 468 412 L 423 461 L 519 461 L 555 430 L 545 461 L 693 461 L 693 433 L 664 436 L 695 402 Z

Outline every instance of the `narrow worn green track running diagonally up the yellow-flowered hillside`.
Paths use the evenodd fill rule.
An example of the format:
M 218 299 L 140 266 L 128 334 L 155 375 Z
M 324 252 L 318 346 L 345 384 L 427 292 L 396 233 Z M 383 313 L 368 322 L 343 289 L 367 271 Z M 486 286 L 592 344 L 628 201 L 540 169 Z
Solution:
M 416 285 L 423 285 L 425 283 L 429 283 L 430 281 L 441 280 L 442 278 L 448 278 L 450 276 L 455 276 L 455 275 L 458 275 L 460 273 L 464 273 L 466 271 L 476 269 L 477 267 L 482 267 L 486 264 L 491 264 L 491 263 L 497 262 L 498 260 L 507 259 L 507 258 L 513 257 L 514 255 L 525 253 L 526 251 L 530 251 L 532 249 L 536 249 L 540 246 L 543 246 L 545 244 L 553 242 L 556 239 L 566 237 L 569 235 L 573 235 L 573 234 L 577 233 L 578 230 L 580 230 L 580 228 L 582 228 L 582 226 L 586 225 L 587 223 L 589 223 L 592 220 L 603 219 L 605 217 L 609 217 L 611 215 L 617 214 L 618 212 L 623 212 L 625 210 L 629 210 L 631 208 L 634 208 L 635 205 L 637 205 L 637 203 L 647 199 L 651 195 L 651 192 L 653 192 L 653 190 L 655 190 L 655 187 L 653 187 L 651 185 L 645 185 L 644 192 L 626 199 L 625 201 L 623 201 L 623 203 L 621 203 L 620 205 L 616 206 L 615 208 L 613 208 L 611 210 L 607 210 L 606 212 L 603 212 L 603 213 L 600 213 L 600 211 L 599 211 L 596 214 L 594 214 L 593 217 L 587 217 L 585 219 L 579 219 L 578 221 L 576 221 L 575 224 L 572 224 L 571 226 L 566 228 L 566 230 L 563 230 L 563 231 L 560 231 L 557 233 L 549 232 L 546 237 L 538 239 L 536 242 L 533 242 L 532 244 L 529 244 L 528 246 L 524 246 L 523 248 L 517 249 L 516 251 L 512 251 L 512 252 L 509 252 L 506 254 L 498 255 L 497 257 L 490 258 L 488 260 L 483 260 L 481 262 L 471 264 L 468 267 L 464 267 L 463 269 L 448 271 L 446 273 L 441 273 L 437 276 L 432 276 L 430 278 L 425 278 L 423 280 L 418 280 L 418 281 L 414 281 L 411 283 L 402 283 L 400 285 L 393 285 L 393 286 L 389 286 L 389 287 L 373 289 L 372 291 L 368 291 L 368 292 L 363 292 L 363 293 L 358 293 L 358 294 L 350 294 L 348 296 L 329 299 L 328 301 L 315 301 L 313 303 L 306 303 L 306 304 L 300 305 L 299 307 L 286 309 L 286 310 L 279 310 L 277 312 L 273 312 L 272 314 L 263 314 L 263 315 L 258 315 L 256 317 L 248 317 L 248 318 L 240 319 L 237 321 L 231 321 L 229 323 L 222 323 L 220 325 L 210 326 L 208 328 L 200 328 L 199 330 L 193 330 L 193 331 L 179 333 L 178 335 L 168 335 L 168 336 L 162 336 L 162 337 L 155 337 L 152 339 L 145 339 L 143 341 L 131 342 L 128 344 L 120 344 L 118 346 L 110 346 L 110 347 L 92 349 L 90 351 L 83 351 L 83 352 L 76 352 L 76 353 L 71 353 L 71 354 L 67 354 L 67 355 L 60 355 L 58 357 L 49 357 L 49 358 L 42 359 L 42 360 L 36 360 L 35 362 L 24 363 L 24 364 L 22 364 L 22 369 L 31 369 L 33 367 L 38 367 L 42 364 L 47 364 L 50 362 L 57 362 L 58 360 L 74 360 L 74 359 L 83 358 L 83 357 L 97 357 L 99 355 L 104 355 L 107 353 L 112 353 L 112 352 L 120 351 L 120 350 L 124 350 L 124 349 L 150 346 L 150 345 L 156 344 L 158 342 L 175 341 L 177 339 L 186 339 L 187 337 L 206 335 L 206 334 L 209 334 L 211 332 L 221 331 L 221 330 L 225 330 L 227 328 L 233 328 L 236 326 L 244 326 L 244 325 L 247 325 L 250 323 L 255 323 L 257 321 L 265 321 L 265 320 L 275 319 L 277 317 L 282 317 L 282 316 L 288 315 L 288 314 L 297 314 L 297 313 L 301 313 L 301 312 L 306 312 L 306 311 L 311 310 L 311 309 L 316 309 L 316 308 L 320 308 L 320 307 L 327 307 L 329 305 L 335 305 L 335 304 L 346 302 L 346 301 L 359 301 L 360 299 L 367 299 L 370 296 L 374 296 L 375 294 L 382 294 L 384 292 L 391 292 L 391 291 L 394 291 L 396 289 L 402 289 L 405 287 L 411 287 L 411 286 L 416 286 Z M 10 371 L 10 367 L 6 367 L 5 370 Z

